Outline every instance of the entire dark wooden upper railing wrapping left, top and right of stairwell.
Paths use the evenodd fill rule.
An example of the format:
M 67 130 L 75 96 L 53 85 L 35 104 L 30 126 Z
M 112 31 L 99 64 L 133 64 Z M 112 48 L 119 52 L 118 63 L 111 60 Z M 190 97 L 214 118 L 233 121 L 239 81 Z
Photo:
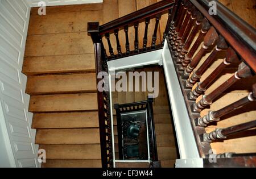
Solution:
M 205 160 L 209 158 L 210 143 L 214 140 L 225 140 L 229 134 L 233 132 L 241 132 L 255 127 L 255 122 L 238 124 L 237 126 L 217 129 L 207 134 L 205 126 L 218 122 L 222 115 L 237 110 L 247 103 L 255 101 L 256 85 L 252 86 L 251 93 L 247 99 L 240 99 L 236 103 L 228 106 L 221 106 L 220 110 L 210 111 L 208 115 L 201 117 L 200 111 L 206 109 L 219 98 L 224 91 L 230 89 L 237 81 L 245 80 L 255 75 L 256 72 L 256 31 L 249 24 L 244 22 L 237 15 L 226 9 L 221 3 L 217 4 L 217 15 L 209 14 L 210 0 L 163 0 L 144 9 L 123 16 L 122 18 L 113 20 L 102 26 L 97 22 L 88 23 L 88 32 L 92 36 L 94 49 L 96 54 L 96 72 L 102 70 L 102 66 L 107 69 L 106 62 L 121 57 L 138 55 L 139 53 L 154 51 L 163 48 L 163 42 L 156 44 L 159 19 L 162 14 L 168 12 L 168 20 L 166 30 L 163 33 L 163 40 L 167 40 L 171 49 L 172 59 L 176 67 L 177 77 L 183 91 L 183 96 L 187 105 L 188 113 L 191 118 L 195 139 L 200 156 Z M 150 19 L 155 19 L 154 34 L 152 35 L 152 43 L 147 47 L 148 41 L 148 24 Z M 144 23 L 144 37 L 142 48 L 139 48 L 138 26 Z M 134 49 L 130 48 L 129 27 L 134 27 L 135 40 Z M 125 32 L 125 51 L 122 51 L 119 32 Z M 197 36 L 199 32 L 199 35 Z M 114 36 L 115 41 L 111 41 L 110 37 Z M 106 38 L 108 44 L 108 53 L 102 42 L 102 38 Z M 195 42 L 193 42 L 195 40 Z M 112 44 L 116 44 L 116 54 Z M 201 45 L 201 43 L 203 43 Z M 210 56 L 201 63 L 206 52 L 212 49 Z M 197 49 L 199 48 L 199 51 Z M 220 55 L 221 51 L 225 52 L 225 59 L 218 67 L 207 77 L 201 80 L 201 77 L 209 68 L 209 66 Z M 240 65 L 238 65 L 240 64 Z M 218 79 L 219 74 L 228 66 L 237 65 L 237 71 L 226 82 L 218 86 L 211 93 L 204 95 L 210 85 Z M 196 85 L 196 88 L 192 87 Z M 101 152 L 102 166 L 111 161 L 107 159 L 106 146 L 106 122 L 104 111 L 104 93 L 98 92 L 98 109 L 101 132 Z M 199 97 L 203 97 L 199 100 Z M 108 117 L 107 117 L 108 118 Z M 231 129 L 238 128 L 240 130 Z M 230 131 L 231 130 L 231 131 Z M 231 133 L 230 133 L 231 132 Z M 109 148 L 111 149 L 111 148 Z M 110 151 L 111 152 L 111 151 Z M 255 155 L 237 154 L 237 155 L 217 155 L 225 158 L 225 164 L 237 166 L 251 166 L 251 161 L 255 161 Z M 232 157 L 233 156 L 233 157 Z M 249 160 L 250 159 L 250 160 Z M 221 160 L 222 161 L 222 160 Z M 228 162 L 227 162 L 228 161 Z M 207 164 L 207 166 L 216 166 Z M 220 164 L 222 166 L 223 163 Z

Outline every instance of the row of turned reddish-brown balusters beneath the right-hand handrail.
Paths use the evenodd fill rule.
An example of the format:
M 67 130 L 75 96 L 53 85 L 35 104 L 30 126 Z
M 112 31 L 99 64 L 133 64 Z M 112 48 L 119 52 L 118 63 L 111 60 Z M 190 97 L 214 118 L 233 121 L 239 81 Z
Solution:
M 200 113 L 200 111 L 212 105 L 213 101 L 220 97 L 221 94 L 224 93 L 225 90 L 228 90 L 235 82 L 243 78 L 254 76 L 254 72 L 245 63 L 241 63 L 242 60 L 240 60 L 240 57 L 238 57 L 234 49 L 226 43 L 225 39 L 218 34 L 216 29 L 209 23 L 208 19 L 204 18 L 191 2 L 184 0 L 180 5 L 175 6 L 175 9 L 177 18 L 172 19 L 170 23 L 168 40 L 171 44 L 172 54 L 176 57 L 176 68 L 183 81 L 185 81 L 184 88 L 190 91 L 188 93 L 188 100 L 194 103 L 192 113 Z M 172 14 L 169 15 L 169 18 L 174 18 L 175 9 Z M 198 32 L 199 35 L 196 36 Z M 195 42 L 193 43 L 194 39 Z M 210 50 L 212 45 L 215 45 L 213 51 L 203 64 L 199 66 L 202 57 Z M 199 51 L 197 51 L 198 48 L 200 48 Z M 225 51 L 225 59 L 207 78 L 201 81 L 201 77 L 209 66 L 212 65 L 221 51 Z M 218 75 L 227 66 L 239 63 L 240 65 L 238 65 L 238 69 L 232 77 L 211 93 L 204 95 L 205 91 L 217 80 Z M 195 84 L 197 84 L 197 87 L 192 90 Z M 200 95 L 203 95 L 203 97 L 199 102 L 196 102 L 196 99 L 199 98 Z M 217 111 L 209 111 L 207 115 L 195 118 L 195 123 L 199 127 L 207 127 L 210 124 L 219 122 L 222 116 L 230 114 L 255 100 L 256 84 L 252 86 L 251 93 L 249 93 L 247 97 L 239 99 Z M 228 128 L 217 128 L 209 134 L 205 133 L 201 135 L 201 141 L 210 143 L 217 139 L 226 139 L 229 135 L 254 127 L 256 127 L 256 120 Z

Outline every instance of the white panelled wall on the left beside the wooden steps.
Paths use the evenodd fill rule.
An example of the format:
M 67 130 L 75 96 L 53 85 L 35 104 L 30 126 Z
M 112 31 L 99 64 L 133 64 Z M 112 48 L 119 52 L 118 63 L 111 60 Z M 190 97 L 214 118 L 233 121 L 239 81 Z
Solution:
M 27 1 L 0 0 L 0 166 L 39 166 L 30 97 L 24 93 L 27 77 L 21 73 L 29 18 Z

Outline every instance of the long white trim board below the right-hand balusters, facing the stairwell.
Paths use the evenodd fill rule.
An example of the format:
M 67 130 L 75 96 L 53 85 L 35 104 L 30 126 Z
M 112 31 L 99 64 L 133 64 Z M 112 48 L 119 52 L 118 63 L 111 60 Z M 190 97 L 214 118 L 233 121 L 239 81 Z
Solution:
M 164 42 L 162 59 L 180 158 L 199 159 L 200 155 L 197 149 L 196 139 L 193 134 L 192 124 L 189 118 L 187 106 L 185 105 L 185 100 L 183 98 L 183 93 L 180 88 L 167 40 Z

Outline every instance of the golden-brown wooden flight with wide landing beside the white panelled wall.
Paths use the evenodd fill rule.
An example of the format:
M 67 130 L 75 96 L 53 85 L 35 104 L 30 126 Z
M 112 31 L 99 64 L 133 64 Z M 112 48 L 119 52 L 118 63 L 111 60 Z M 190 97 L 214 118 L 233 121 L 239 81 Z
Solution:
M 101 167 L 93 45 L 81 22 L 101 21 L 102 4 L 68 7 L 31 11 L 22 72 L 35 143 L 46 150 L 42 167 Z

